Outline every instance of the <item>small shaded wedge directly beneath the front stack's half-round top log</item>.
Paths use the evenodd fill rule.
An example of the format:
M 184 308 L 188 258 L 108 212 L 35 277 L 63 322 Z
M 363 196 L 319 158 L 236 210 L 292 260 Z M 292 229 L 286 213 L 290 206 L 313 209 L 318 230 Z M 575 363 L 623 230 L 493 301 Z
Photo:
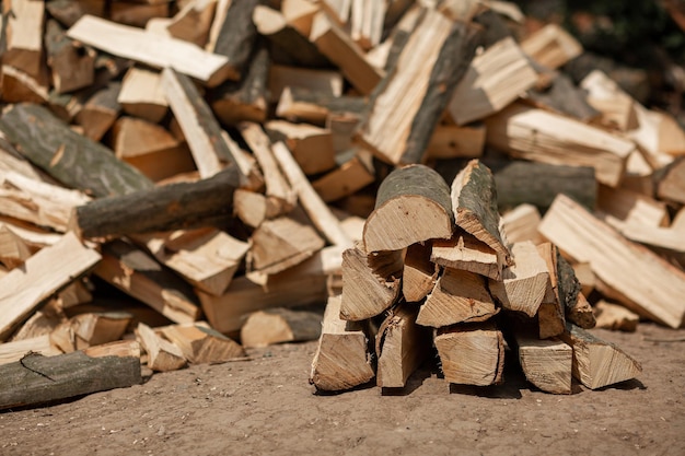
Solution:
M 440 267 L 430 257 L 430 243 L 407 247 L 402 270 L 402 294 L 407 302 L 421 301 L 436 287 Z

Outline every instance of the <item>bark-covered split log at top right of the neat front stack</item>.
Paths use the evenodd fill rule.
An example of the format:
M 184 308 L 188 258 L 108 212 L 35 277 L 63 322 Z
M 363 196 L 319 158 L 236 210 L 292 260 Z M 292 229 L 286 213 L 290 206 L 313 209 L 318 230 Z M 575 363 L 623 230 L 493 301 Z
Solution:
M 468 162 L 452 182 L 452 208 L 457 226 L 487 244 L 511 265 L 511 255 L 499 231 L 497 188 L 492 172 L 478 160 Z

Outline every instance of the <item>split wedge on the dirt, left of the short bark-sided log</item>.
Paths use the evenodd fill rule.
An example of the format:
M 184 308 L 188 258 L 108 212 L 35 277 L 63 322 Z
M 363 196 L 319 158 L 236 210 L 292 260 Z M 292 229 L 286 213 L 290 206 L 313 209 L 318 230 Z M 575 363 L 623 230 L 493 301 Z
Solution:
M 181 349 L 190 364 L 223 363 L 245 358 L 245 350 L 233 339 L 200 325 L 172 325 L 162 335 Z

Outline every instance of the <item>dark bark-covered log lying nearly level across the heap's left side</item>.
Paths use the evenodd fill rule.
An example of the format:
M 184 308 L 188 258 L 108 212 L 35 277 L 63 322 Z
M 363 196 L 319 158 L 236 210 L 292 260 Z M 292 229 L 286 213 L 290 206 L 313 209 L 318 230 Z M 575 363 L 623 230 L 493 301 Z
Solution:
M 240 185 L 235 166 L 213 177 L 177 183 L 79 206 L 71 226 L 81 237 L 190 229 L 233 217 L 233 191 Z

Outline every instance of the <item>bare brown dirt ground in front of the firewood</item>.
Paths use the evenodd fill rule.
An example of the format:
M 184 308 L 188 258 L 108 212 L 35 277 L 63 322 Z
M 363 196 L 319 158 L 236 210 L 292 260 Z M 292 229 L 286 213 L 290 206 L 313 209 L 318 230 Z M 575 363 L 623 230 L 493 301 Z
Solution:
M 315 342 L 252 361 L 0 414 L 0 455 L 685 455 L 685 330 L 595 330 L 637 358 L 636 381 L 555 396 L 508 359 L 498 387 L 448 384 L 430 363 L 403 391 L 314 394 Z

